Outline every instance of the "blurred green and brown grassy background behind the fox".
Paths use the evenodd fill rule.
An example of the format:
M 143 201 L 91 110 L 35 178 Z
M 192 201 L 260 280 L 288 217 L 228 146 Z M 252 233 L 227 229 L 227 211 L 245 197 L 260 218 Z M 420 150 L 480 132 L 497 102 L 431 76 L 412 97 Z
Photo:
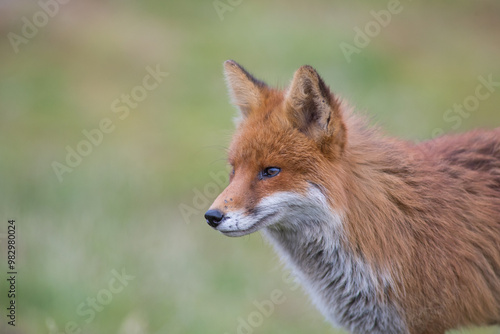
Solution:
M 444 117 L 479 76 L 500 81 L 500 2 L 401 0 L 348 62 L 339 45 L 354 45 L 353 29 L 388 3 L 222 0 L 218 12 L 212 0 L 69 1 L 42 25 L 38 2 L 0 2 L 0 332 L 342 333 L 283 278 L 259 234 L 227 238 L 203 219 L 233 130 L 222 63 L 280 87 L 313 65 L 388 134 L 410 140 L 500 126 L 498 91 L 468 117 Z M 8 36 L 22 36 L 34 15 L 41 27 L 15 52 Z M 157 66 L 168 76 L 120 119 L 111 104 Z M 114 130 L 60 182 L 53 163 L 66 164 L 67 147 L 84 145 L 82 131 L 103 119 Z M 8 219 L 15 328 L 5 316 Z M 110 300 L 113 270 L 134 278 Z M 255 302 L 276 289 L 284 302 L 259 318 Z M 81 315 L 96 297 L 105 305 Z M 241 319 L 256 326 L 245 332 Z

